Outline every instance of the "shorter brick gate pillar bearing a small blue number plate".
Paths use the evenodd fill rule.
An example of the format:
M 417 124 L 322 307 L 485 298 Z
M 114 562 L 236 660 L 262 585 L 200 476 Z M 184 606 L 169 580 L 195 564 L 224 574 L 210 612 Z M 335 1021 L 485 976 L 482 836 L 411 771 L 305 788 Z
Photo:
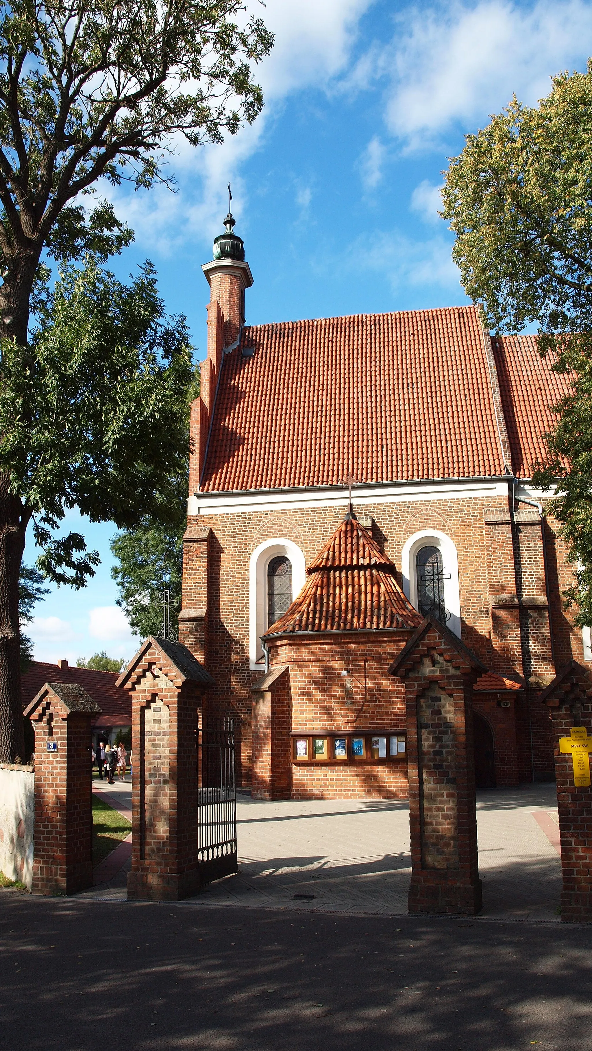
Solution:
M 46 682 L 25 708 L 35 726 L 34 894 L 92 886 L 92 720 L 82 686 Z

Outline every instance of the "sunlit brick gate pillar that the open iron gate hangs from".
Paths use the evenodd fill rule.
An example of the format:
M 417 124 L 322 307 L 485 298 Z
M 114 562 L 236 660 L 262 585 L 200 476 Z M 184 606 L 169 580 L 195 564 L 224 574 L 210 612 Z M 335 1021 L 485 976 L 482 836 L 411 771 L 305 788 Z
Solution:
M 118 679 L 131 693 L 128 899 L 178 901 L 199 889 L 197 713 L 213 681 L 187 646 L 153 637 Z

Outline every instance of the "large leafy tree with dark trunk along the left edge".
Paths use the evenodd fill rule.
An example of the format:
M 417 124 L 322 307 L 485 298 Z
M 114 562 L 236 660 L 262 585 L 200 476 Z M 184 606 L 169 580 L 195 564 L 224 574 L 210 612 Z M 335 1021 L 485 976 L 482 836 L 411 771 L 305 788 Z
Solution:
M 97 267 L 131 231 L 105 202 L 85 209 L 84 195 L 101 179 L 136 187 L 167 181 L 166 154 L 178 136 L 192 145 L 219 142 L 255 120 L 262 94 L 251 63 L 269 53 L 273 37 L 260 19 L 239 26 L 242 11 L 240 0 L 13 0 L 0 15 L 0 761 L 22 755 L 18 580 L 33 515 L 41 571 L 80 586 L 98 556 L 85 553 L 79 534 L 52 539 L 64 508 L 80 499 L 93 519 L 113 517 L 120 528 L 153 506 L 166 518 L 168 479 L 181 455 L 174 401 L 186 386 L 186 330 L 165 332 L 146 271 L 129 289 L 129 331 L 110 342 L 120 337 L 109 328 L 104 293 L 115 289 Z M 85 252 L 93 266 L 88 277 L 75 276 L 69 264 Z M 65 268 L 49 315 L 43 253 Z M 68 292 L 79 308 L 86 297 L 97 334 L 75 309 L 68 338 Z M 126 313 L 124 300 L 122 292 L 115 314 Z M 34 339 L 31 307 L 47 326 Z M 45 394 L 47 406 L 39 400 Z M 90 413 L 86 427 L 79 405 Z

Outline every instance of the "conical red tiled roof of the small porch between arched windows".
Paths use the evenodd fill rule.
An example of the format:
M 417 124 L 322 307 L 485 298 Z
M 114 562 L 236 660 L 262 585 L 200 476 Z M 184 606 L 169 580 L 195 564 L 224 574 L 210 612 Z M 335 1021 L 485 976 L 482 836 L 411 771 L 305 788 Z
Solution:
M 308 572 L 302 591 L 268 637 L 415 628 L 423 620 L 397 583 L 395 564 L 355 516 L 345 516 Z

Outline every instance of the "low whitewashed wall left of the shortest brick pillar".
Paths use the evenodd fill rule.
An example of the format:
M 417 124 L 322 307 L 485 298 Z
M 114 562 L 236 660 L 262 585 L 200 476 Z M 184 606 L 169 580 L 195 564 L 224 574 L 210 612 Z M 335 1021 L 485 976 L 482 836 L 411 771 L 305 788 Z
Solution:
M 34 770 L 0 763 L 0 871 L 20 880 L 27 890 L 33 881 L 34 816 Z

